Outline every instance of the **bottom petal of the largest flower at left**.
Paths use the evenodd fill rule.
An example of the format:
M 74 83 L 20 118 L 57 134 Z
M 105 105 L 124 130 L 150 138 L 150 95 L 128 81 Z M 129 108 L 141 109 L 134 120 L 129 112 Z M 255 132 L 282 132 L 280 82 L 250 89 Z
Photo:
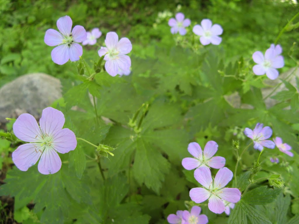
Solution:
M 45 149 L 38 163 L 41 174 L 55 174 L 61 168 L 61 159 L 54 149 Z

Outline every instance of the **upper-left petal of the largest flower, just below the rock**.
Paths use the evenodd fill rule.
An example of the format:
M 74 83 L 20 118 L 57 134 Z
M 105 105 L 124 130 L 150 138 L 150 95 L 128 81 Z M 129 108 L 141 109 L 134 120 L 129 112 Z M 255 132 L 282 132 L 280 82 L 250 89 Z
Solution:
M 24 142 L 38 142 L 42 136 L 36 119 L 29 113 L 23 113 L 16 119 L 13 133 Z

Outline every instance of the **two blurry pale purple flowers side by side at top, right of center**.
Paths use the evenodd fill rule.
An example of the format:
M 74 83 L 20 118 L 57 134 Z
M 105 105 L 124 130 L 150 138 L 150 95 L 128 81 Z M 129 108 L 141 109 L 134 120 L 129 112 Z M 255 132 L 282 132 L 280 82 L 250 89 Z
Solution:
M 184 19 L 185 16 L 183 13 L 177 13 L 176 19 L 171 18 L 168 21 L 168 25 L 171 27 L 170 32 L 172 34 L 178 33 L 185 35 L 187 30 L 185 27 L 190 26 L 190 19 Z M 202 45 L 208 45 L 212 43 L 213 45 L 219 45 L 222 41 L 222 38 L 219 37 L 223 32 L 222 27 L 219 24 L 212 25 L 210 19 L 203 19 L 200 25 L 195 25 L 193 27 L 193 33 L 200 36 L 199 41 Z

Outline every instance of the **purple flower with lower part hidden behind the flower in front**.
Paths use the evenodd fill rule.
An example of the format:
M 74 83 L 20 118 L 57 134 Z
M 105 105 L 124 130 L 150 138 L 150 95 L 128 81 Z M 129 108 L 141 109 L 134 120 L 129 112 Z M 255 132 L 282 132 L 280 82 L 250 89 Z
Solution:
M 217 149 L 218 145 L 214 141 L 208 141 L 203 152 L 197 142 L 191 142 L 188 145 L 188 151 L 195 158 L 184 158 L 182 165 L 186 170 L 193 170 L 202 166 L 220 169 L 225 165 L 225 158 L 221 156 L 213 157 Z

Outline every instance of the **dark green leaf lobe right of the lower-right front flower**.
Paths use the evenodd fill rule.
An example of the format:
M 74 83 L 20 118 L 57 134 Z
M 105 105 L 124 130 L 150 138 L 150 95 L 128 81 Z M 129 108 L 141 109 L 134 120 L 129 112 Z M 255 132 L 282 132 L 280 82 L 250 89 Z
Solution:
M 242 200 L 251 205 L 264 205 L 273 202 L 280 194 L 280 191 L 280 188 L 272 189 L 267 186 L 261 186 L 246 192 L 242 196 Z

